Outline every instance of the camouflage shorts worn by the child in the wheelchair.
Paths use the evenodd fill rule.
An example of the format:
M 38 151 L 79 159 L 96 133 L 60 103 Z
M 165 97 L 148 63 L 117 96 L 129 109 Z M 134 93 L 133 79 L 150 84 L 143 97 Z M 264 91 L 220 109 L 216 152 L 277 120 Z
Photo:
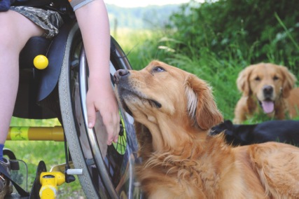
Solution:
M 16 11 L 36 25 L 45 30 L 43 34 L 47 39 L 58 34 L 58 29 L 62 26 L 63 20 L 59 13 L 55 11 L 46 11 L 41 8 L 32 8 L 27 6 L 12 6 L 11 10 Z

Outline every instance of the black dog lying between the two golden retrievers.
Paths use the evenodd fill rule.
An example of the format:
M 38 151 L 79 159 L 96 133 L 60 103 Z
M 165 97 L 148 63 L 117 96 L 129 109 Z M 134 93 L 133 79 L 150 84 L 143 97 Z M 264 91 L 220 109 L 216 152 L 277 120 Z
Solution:
M 223 131 L 226 142 L 232 146 L 270 141 L 299 146 L 299 121 L 266 121 L 254 125 L 234 125 L 224 121 L 212 128 L 210 135 Z

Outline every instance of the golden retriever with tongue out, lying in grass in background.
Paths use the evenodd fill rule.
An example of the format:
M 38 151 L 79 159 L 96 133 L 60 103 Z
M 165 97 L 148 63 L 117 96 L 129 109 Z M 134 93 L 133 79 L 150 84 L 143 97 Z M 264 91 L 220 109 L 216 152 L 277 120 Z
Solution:
M 253 114 L 263 111 L 282 120 L 298 116 L 299 89 L 296 78 L 286 67 L 270 63 L 253 64 L 243 69 L 237 78 L 242 97 L 235 107 L 233 123 L 240 124 Z

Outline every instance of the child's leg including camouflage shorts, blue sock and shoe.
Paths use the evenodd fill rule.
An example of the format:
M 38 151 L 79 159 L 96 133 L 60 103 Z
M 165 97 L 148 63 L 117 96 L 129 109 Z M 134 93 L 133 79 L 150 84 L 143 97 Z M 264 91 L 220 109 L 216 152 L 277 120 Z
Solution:
M 3 158 L 3 148 L 18 92 L 20 51 L 32 36 L 55 36 L 63 23 L 60 15 L 53 11 L 29 7 L 11 9 L 14 11 L 0 12 L 0 27 L 4 27 L 0 31 L 0 166 L 8 173 L 10 162 Z M 12 193 L 13 186 L 3 174 L 0 176 L 0 198 L 4 198 Z

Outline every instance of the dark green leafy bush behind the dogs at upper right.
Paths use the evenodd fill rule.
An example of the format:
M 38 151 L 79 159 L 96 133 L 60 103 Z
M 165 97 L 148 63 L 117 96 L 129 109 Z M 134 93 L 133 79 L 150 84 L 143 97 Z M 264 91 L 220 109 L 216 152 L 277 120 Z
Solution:
M 190 1 L 171 16 L 167 26 L 176 29 L 172 39 L 181 41 L 172 48 L 188 55 L 188 46 L 205 47 L 221 58 L 227 58 L 226 52 L 234 52 L 232 56 L 244 59 L 244 64 L 275 62 L 295 66 L 299 63 L 297 4 L 297 0 Z

